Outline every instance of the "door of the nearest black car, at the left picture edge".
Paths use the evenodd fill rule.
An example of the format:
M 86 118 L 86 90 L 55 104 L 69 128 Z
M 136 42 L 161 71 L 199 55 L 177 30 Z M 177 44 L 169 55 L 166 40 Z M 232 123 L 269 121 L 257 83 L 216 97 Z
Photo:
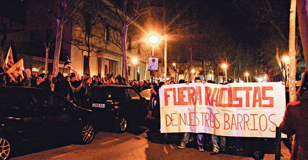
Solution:
M 21 145 L 38 142 L 42 138 L 42 121 L 34 117 L 25 92 L 22 88 L 6 88 L 1 90 L 5 94 L 0 94 L 2 124 L 10 134 L 8 136 Z

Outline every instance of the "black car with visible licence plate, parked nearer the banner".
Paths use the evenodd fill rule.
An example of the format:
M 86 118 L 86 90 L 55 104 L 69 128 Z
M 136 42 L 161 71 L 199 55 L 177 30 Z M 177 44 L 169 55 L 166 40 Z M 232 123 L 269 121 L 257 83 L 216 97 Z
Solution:
M 85 104 L 96 113 L 97 122 L 124 132 L 127 126 L 140 125 L 147 114 L 145 98 L 133 88 L 124 85 L 101 85 L 92 88 Z

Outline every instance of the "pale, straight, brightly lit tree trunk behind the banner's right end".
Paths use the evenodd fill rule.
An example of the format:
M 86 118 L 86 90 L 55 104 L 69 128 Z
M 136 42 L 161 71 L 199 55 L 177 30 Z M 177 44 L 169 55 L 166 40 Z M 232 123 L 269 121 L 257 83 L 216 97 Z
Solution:
M 296 51 L 295 51 L 295 20 L 296 20 L 296 0 L 291 0 L 290 7 L 290 32 L 289 32 L 289 56 L 290 56 L 290 70 L 289 70 L 289 87 L 290 87 L 290 102 L 296 99 L 295 78 L 296 78 Z M 304 47 L 304 45 L 303 45 Z M 286 67 L 285 62 L 285 69 Z M 285 75 L 287 78 L 287 75 Z

